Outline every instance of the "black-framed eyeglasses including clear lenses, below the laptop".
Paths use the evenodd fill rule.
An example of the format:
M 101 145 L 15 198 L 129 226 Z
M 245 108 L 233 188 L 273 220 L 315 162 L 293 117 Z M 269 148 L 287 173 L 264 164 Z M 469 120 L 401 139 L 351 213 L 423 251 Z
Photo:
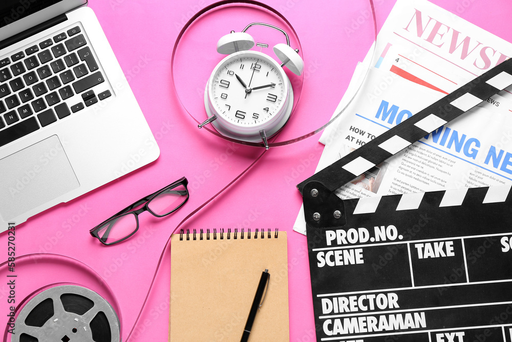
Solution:
M 103 245 L 121 242 L 139 229 L 139 214 L 148 211 L 153 216 L 163 217 L 178 210 L 188 199 L 188 180 L 183 177 L 173 184 L 152 193 L 91 229 L 92 236 L 97 237 Z M 142 208 L 135 208 L 144 205 Z

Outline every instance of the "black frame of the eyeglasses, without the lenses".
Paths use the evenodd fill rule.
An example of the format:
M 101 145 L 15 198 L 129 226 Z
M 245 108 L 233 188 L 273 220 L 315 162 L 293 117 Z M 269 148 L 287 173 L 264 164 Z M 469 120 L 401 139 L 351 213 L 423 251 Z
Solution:
M 185 200 L 184 200 L 184 201 L 183 201 L 179 206 L 177 206 L 177 207 L 176 207 L 176 208 L 174 208 L 173 210 L 171 210 L 171 211 L 169 211 L 168 213 L 163 214 L 163 215 L 157 215 L 155 212 L 153 212 L 153 211 L 148 207 L 148 204 L 150 204 L 150 202 L 151 202 L 151 200 L 152 200 L 153 198 L 155 198 L 156 196 L 160 195 L 161 193 L 165 192 L 165 191 L 166 191 L 166 190 L 168 190 L 168 189 L 176 188 L 176 187 L 178 187 L 178 186 L 180 186 L 180 185 L 183 185 L 183 186 L 185 187 L 185 190 L 181 190 L 181 191 L 180 191 L 180 190 L 178 190 L 178 192 L 180 192 L 180 193 L 181 193 L 181 192 L 186 192 L 187 197 L 185 198 Z M 176 182 L 174 182 L 174 183 L 172 183 L 172 184 L 169 184 L 169 185 L 167 185 L 166 187 L 163 187 L 162 189 L 160 189 L 160 190 L 158 190 L 158 191 L 156 191 L 156 192 L 152 193 L 151 195 L 147 195 L 147 196 L 145 196 L 145 197 L 143 197 L 143 198 L 139 199 L 139 200 L 138 200 L 137 202 L 135 202 L 134 204 L 132 204 L 132 205 L 130 205 L 130 206 L 128 206 L 128 207 L 126 207 L 126 208 L 124 208 L 123 210 L 119 211 L 118 213 L 116 213 L 116 214 L 112 215 L 111 217 L 109 217 L 108 219 L 104 220 L 102 223 L 100 223 L 99 225 L 97 225 L 96 227 L 94 227 L 93 229 L 91 229 L 91 230 L 89 231 L 89 233 L 90 233 L 93 237 L 96 237 L 98 240 L 100 240 L 100 242 L 101 242 L 103 245 L 105 245 L 105 246 L 112 246 L 112 245 L 115 245 L 115 244 L 117 244 L 117 243 L 120 243 L 121 241 L 124 241 L 124 240 L 126 240 L 127 238 L 129 238 L 130 236 L 132 236 L 133 234 L 135 234 L 135 232 L 136 232 L 137 230 L 139 230 L 139 214 L 140 214 L 140 213 L 142 213 L 142 212 L 144 212 L 144 211 L 148 211 L 148 212 L 150 212 L 150 213 L 151 213 L 153 216 L 155 216 L 155 217 L 164 217 L 164 216 L 167 216 L 167 215 L 169 215 L 169 214 L 172 214 L 172 213 L 173 213 L 173 212 L 175 212 L 176 210 L 180 209 L 180 208 L 181 208 L 181 206 L 183 206 L 183 205 L 187 202 L 187 200 L 188 200 L 188 198 L 189 198 L 189 192 L 188 192 L 188 189 L 187 189 L 187 185 L 188 185 L 188 180 L 187 180 L 187 178 L 186 178 L 186 177 L 182 177 L 182 178 L 180 178 L 180 179 L 176 180 Z M 145 203 L 145 204 L 144 204 L 144 203 Z M 140 206 L 140 205 L 142 205 L 142 204 L 144 204 L 144 206 L 143 206 L 143 207 L 141 207 L 140 209 L 137 209 L 137 210 L 132 211 L 134 208 L 137 208 L 138 206 Z M 119 217 L 122 217 L 122 216 L 125 216 L 125 215 L 132 215 L 132 214 L 133 214 L 133 215 L 135 215 L 135 221 L 136 221 L 136 223 L 137 223 L 137 227 L 134 229 L 134 231 L 133 231 L 131 234 L 129 234 L 129 235 L 127 235 L 127 236 L 125 236 L 125 237 L 123 237 L 123 238 L 121 238 L 121 239 L 119 239 L 119 240 L 116 240 L 115 242 L 110 243 L 110 244 L 105 243 L 105 242 L 103 241 L 103 239 L 99 236 L 99 230 L 100 230 L 101 228 L 103 228 L 103 227 L 105 226 L 105 224 L 106 224 L 106 223 L 108 223 L 109 221 L 111 221 L 111 220 L 113 220 L 113 219 L 117 219 L 117 218 L 119 218 Z

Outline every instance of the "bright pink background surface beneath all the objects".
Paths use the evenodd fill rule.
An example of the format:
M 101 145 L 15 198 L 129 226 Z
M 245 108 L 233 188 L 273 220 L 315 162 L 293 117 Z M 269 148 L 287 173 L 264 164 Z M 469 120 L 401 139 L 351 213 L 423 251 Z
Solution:
M 90 267 L 86 271 L 76 266 L 79 264 L 76 261 L 62 258 L 51 262 L 32 260 L 38 261 L 36 267 L 27 267 L 17 278 L 18 300 L 42 285 L 57 281 L 86 285 L 108 297 L 104 284 L 95 278 L 97 272 L 118 301 L 125 340 L 169 234 L 188 213 L 239 175 L 262 152 L 198 130 L 176 95 L 170 72 L 174 43 L 188 18 L 210 3 L 209 0 L 89 1 L 161 154 L 153 164 L 16 227 L 17 255 L 57 253 Z M 330 118 L 356 63 L 370 48 L 373 24 L 353 1 L 263 0 L 263 3 L 288 19 L 302 45 L 306 70 L 302 95 L 294 117 L 279 137 L 292 138 L 321 126 Z M 394 3 L 394 0 L 375 0 L 379 28 Z M 433 3 L 507 41 L 512 40 L 509 21 L 512 5 L 508 0 L 434 0 Z M 249 22 L 250 18 L 242 27 L 237 24 L 232 29 L 240 31 Z M 227 32 L 217 31 L 218 28 L 212 29 L 211 38 L 201 40 L 209 41 L 210 45 L 188 43 L 186 46 L 186 53 L 196 57 L 191 66 L 197 65 L 191 71 L 190 82 L 200 84 L 200 88 L 209 76 L 203 75 L 202 70 L 211 70 L 205 65 L 222 58 L 215 52 L 215 43 Z M 185 100 L 201 108 L 202 96 L 195 93 L 188 92 Z M 203 118 L 204 112 L 196 117 Z M 302 202 L 295 185 L 314 172 L 323 149 L 317 140 L 318 135 L 291 146 L 270 149 L 253 169 L 183 226 L 185 229 L 279 228 L 288 232 L 289 318 L 293 342 L 315 339 L 307 241 L 304 235 L 293 232 L 292 226 Z M 191 194 L 188 203 L 175 214 L 164 219 L 143 214 L 136 235 L 112 247 L 102 246 L 89 235 L 89 229 L 106 217 L 182 176 L 188 178 Z M 6 233 L 0 234 L 0 246 L 4 246 L 0 255 L 7 254 L 7 238 Z M 167 340 L 171 262 L 167 250 L 130 341 Z M 22 263 L 20 260 L 18 265 L 23 266 Z M 4 279 L 2 274 L 2 324 L 8 296 Z

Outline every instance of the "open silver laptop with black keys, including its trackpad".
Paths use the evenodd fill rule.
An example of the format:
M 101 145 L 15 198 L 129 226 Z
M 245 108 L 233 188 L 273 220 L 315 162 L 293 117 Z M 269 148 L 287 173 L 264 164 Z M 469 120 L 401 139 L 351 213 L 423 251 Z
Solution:
M 0 231 L 160 154 L 86 5 L 0 1 Z

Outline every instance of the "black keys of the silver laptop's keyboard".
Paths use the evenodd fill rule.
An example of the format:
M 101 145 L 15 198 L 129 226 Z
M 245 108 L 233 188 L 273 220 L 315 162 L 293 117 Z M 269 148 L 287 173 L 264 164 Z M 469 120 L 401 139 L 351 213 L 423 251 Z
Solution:
M 104 82 L 79 26 L 1 58 L 0 147 L 112 96 Z

